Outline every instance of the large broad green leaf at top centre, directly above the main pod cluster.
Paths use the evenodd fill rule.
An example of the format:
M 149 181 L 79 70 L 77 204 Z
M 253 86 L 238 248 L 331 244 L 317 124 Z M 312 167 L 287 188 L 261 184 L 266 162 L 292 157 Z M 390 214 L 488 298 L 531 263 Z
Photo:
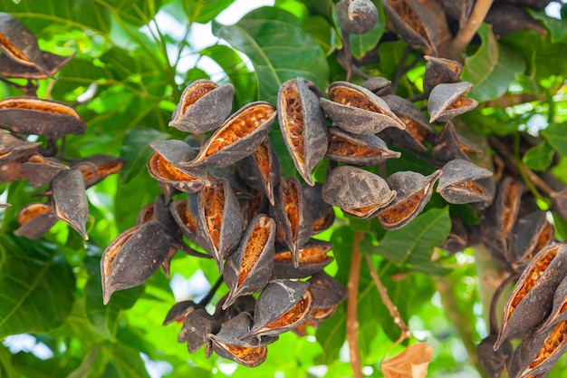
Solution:
M 327 87 L 329 67 L 321 47 L 300 20 L 281 9 L 259 8 L 230 26 L 213 22 L 213 34 L 252 61 L 260 100 L 275 104 L 282 83 L 298 76 Z

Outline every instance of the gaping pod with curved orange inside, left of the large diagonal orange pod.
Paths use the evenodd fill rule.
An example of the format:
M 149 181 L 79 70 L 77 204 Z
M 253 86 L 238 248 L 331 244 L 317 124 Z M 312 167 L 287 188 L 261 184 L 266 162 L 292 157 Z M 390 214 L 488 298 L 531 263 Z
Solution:
M 195 193 L 207 185 L 207 168 L 187 168 L 179 164 L 197 156 L 187 143 L 178 140 L 152 141 L 149 146 L 156 152 L 148 160 L 149 175 L 173 188 Z

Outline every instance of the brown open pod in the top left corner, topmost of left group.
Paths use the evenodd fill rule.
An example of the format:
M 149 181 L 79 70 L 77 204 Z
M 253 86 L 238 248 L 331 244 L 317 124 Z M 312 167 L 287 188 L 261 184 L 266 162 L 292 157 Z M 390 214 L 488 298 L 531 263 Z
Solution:
M 34 34 L 20 20 L 0 12 L 0 49 L 14 62 L 31 66 L 48 76 Z

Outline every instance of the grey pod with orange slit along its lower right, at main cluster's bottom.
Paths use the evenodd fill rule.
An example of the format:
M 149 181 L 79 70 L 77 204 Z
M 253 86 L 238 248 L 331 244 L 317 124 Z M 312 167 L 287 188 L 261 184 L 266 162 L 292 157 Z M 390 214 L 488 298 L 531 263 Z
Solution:
M 254 310 L 254 327 L 245 339 L 283 334 L 301 325 L 311 312 L 313 297 L 309 283 L 274 279 L 264 287 Z

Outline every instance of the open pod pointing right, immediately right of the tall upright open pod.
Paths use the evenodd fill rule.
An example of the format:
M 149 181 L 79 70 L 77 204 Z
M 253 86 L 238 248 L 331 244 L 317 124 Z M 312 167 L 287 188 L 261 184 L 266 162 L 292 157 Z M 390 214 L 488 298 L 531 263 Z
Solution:
M 327 92 L 329 100 L 319 99 L 322 109 L 344 131 L 376 134 L 389 127 L 406 128 L 384 100 L 360 85 L 332 82 Z

